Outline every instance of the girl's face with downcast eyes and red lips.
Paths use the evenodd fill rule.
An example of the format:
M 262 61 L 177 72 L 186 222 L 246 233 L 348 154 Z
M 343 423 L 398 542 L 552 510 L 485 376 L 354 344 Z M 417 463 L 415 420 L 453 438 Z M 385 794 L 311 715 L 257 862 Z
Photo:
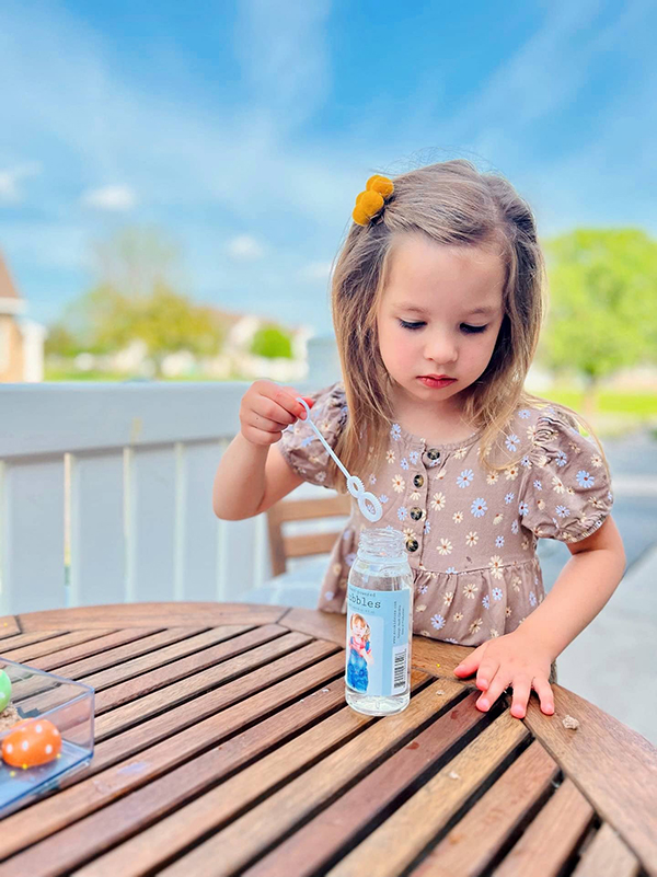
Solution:
M 503 286 L 502 259 L 488 250 L 411 234 L 395 242 L 377 327 L 381 358 L 401 393 L 397 403 L 458 413 L 459 393 L 493 355 L 504 319 Z M 442 374 L 457 380 L 442 388 L 419 380 Z

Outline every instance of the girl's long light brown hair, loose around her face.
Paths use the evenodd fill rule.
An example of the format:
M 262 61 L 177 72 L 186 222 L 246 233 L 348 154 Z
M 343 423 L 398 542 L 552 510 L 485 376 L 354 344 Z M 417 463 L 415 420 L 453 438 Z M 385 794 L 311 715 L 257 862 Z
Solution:
M 525 390 L 545 313 L 545 264 L 533 214 L 512 185 L 500 175 L 481 173 L 465 159 L 429 164 L 393 177 L 394 192 L 382 214 L 367 226 L 351 223 L 337 255 L 332 279 L 333 324 L 337 338 L 349 417 L 336 453 L 349 472 L 362 473 L 383 455 L 394 419 L 392 379 L 377 338 L 377 311 L 390 272 L 394 243 L 406 234 L 423 234 L 437 244 L 493 249 L 503 259 L 504 319 L 491 361 L 463 391 L 463 417 L 482 429 L 480 459 L 488 472 L 519 463 L 495 464 L 489 458 L 503 446 L 516 409 L 551 405 L 574 428 L 580 423 L 599 447 L 588 422 L 573 408 Z M 337 466 L 330 476 L 346 491 Z

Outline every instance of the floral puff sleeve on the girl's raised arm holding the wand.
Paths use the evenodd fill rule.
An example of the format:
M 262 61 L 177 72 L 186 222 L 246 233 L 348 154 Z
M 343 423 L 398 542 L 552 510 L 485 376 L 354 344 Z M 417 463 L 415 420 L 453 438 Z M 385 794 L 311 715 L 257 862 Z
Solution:
M 308 393 L 314 400 L 310 413 L 313 423 L 324 436 L 331 448 L 335 448 L 337 438 L 347 419 L 345 390 L 342 382 Z M 277 446 L 288 465 L 304 481 L 323 487 L 335 487 L 330 483 L 327 464 L 331 462 L 328 451 L 311 429 L 308 420 L 297 420 L 284 429 Z

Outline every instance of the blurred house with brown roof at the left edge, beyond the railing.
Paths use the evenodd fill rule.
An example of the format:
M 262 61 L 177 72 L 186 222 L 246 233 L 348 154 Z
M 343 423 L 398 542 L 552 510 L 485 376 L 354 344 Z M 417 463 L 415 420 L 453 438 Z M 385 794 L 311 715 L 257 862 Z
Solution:
M 44 379 L 46 330 L 23 316 L 21 298 L 0 253 L 0 382 L 36 382 Z

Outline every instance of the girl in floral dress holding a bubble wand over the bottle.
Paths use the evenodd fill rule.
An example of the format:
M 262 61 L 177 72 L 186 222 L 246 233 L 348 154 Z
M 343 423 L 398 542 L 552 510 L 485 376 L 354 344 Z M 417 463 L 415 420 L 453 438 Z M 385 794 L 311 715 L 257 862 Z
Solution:
M 593 430 L 525 390 L 545 288 L 532 212 L 506 180 L 456 160 L 371 177 L 353 217 L 332 281 L 343 380 L 307 401 L 383 518 L 370 523 L 353 500 L 319 608 L 346 611 L 364 528 L 400 529 L 414 632 L 476 646 L 456 673 L 476 672 L 480 709 L 511 686 L 512 715 L 532 689 L 552 714 L 554 661 L 609 600 L 625 555 L 604 451 L 578 420 Z M 269 381 L 245 393 L 215 480 L 218 517 L 266 511 L 302 481 L 346 491 L 297 396 Z M 541 538 L 573 555 L 548 597 Z

